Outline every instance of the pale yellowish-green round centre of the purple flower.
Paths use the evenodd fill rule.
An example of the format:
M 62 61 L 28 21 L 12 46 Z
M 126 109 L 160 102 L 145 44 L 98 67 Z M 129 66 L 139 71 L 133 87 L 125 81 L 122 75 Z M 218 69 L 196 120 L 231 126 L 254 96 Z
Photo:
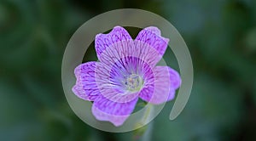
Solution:
M 143 78 L 137 74 L 131 74 L 125 79 L 125 87 L 131 92 L 138 92 L 143 87 Z

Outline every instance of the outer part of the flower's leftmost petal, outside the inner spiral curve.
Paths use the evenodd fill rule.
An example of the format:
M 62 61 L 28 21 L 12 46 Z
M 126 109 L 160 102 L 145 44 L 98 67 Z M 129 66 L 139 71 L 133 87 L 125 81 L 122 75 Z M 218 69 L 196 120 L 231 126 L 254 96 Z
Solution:
M 93 101 L 100 95 L 95 78 L 96 64 L 97 62 L 87 62 L 75 68 L 77 82 L 72 90 L 80 99 Z

